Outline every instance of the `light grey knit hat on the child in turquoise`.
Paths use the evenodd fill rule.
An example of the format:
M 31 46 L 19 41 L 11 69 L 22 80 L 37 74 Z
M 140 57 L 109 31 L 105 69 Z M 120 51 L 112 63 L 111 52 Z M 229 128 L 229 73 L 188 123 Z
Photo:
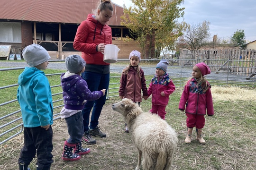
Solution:
M 51 59 L 44 47 L 38 44 L 28 45 L 21 52 L 29 67 L 35 67 Z

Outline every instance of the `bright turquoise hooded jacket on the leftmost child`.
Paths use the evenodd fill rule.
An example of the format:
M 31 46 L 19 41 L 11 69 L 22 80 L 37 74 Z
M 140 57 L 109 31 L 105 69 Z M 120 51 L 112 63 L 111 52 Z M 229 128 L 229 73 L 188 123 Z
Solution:
M 17 99 L 24 127 L 52 125 L 52 92 L 45 73 L 34 67 L 26 67 L 18 76 L 18 84 Z

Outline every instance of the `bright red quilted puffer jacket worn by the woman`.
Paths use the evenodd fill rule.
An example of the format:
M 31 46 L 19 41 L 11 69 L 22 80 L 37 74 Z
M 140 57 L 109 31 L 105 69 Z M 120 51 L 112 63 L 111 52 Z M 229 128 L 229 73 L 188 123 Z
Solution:
M 82 52 L 82 58 L 86 64 L 110 65 L 103 61 L 103 54 L 96 51 L 96 46 L 100 43 L 112 43 L 111 28 L 108 25 L 102 25 L 93 17 L 93 14 L 88 14 L 87 19 L 77 28 L 73 48 Z

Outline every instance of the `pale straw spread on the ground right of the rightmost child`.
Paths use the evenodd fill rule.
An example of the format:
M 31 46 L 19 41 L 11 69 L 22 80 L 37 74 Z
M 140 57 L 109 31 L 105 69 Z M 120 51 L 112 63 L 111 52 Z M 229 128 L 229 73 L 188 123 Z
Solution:
M 256 99 L 256 90 L 242 87 L 230 86 L 212 86 L 212 98 L 215 101 L 254 101 Z

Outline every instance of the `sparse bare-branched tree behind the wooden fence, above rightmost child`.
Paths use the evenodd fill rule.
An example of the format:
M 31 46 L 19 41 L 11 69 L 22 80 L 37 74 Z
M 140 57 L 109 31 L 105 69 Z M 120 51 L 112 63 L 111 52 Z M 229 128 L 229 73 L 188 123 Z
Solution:
M 194 51 L 201 49 L 209 40 L 210 22 L 203 21 L 197 25 L 185 23 L 185 25 L 185 32 L 179 38 L 177 45 L 194 53 Z

